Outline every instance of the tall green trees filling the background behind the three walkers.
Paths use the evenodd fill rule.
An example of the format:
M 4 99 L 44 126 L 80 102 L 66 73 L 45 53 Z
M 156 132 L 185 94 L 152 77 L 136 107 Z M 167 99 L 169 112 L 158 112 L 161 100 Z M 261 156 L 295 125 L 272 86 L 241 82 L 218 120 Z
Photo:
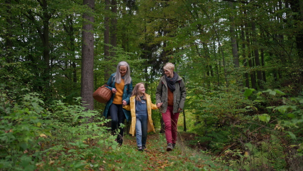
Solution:
M 81 96 L 89 109 L 102 110 L 104 104 L 93 104 L 90 93 L 106 82 L 119 61 L 130 64 L 133 83 L 145 82 L 151 96 L 163 65 L 173 62 L 188 88 L 187 130 L 203 137 L 200 141 L 214 152 L 231 142 L 242 142 L 236 143 L 237 148 L 245 149 L 245 143 L 256 140 L 250 133 L 276 125 L 286 129 L 281 119 L 291 122 L 301 117 L 300 112 L 289 114 L 293 108 L 288 113 L 266 108 L 283 103 L 301 108 L 299 100 L 284 99 L 302 95 L 300 1 L 88 4 L 93 2 L 94 8 L 78 0 L 1 0 L 1 85 L 39 92 L 45 103 L 61 99 L 73 104 L 73 98 Z M 259 93 L 245 99 L 245 87 Z M 255 92 L 252 89 L 248 90 Z M 268 89 L 286 95 L 268 97 L 264 92 Z M 16 93 L 14 98 L 18 97 Z M 276 120 L 254 120 L 262 114 Z M 159 113 L 153 117 L 160 127 Z M 293 131 L 291 126 L 287 131 Z M 266 137 L 268 130 L 260 134 Z M 285 137 L 285 132 L 275 134 Z

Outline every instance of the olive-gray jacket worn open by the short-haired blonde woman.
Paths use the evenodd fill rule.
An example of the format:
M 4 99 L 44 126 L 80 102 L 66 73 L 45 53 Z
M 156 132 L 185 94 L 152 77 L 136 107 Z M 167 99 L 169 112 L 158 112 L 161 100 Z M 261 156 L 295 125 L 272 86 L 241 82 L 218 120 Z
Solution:
M 186 88 L 183 79 L 179 76 L 175 83 L 176 90 L 174 91 L 174 109 L 173 113 L 178 113 L 178 108 L 183 109 L 185 98 L 186 98 Z M 156 104 L 163 103 L 160 112 L 165 113 L 167 109 L 167 82 L 165 80 L 165 75 L 160 78 L 160 82 L 157 87 L 156 92 Z M 182 110 L 181 110 L 182 111 Z M 181 112 L 180 111 L 180 112 Z

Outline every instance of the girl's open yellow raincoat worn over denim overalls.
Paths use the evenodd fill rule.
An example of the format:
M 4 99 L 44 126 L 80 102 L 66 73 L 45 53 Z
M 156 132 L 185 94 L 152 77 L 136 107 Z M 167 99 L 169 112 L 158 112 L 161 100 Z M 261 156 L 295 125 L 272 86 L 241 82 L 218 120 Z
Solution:
M 151 109 L 156 110 L 158 108 L 157 108 L 157 105 L 151 103 L 149 95 L 147 95 L 145 93 L 145 96 L 146 96 L 146 106 L 147 106 L 147 114 L 148 114 L 147 133 L 152 132 L 152 131 L 154 133 L 156 133 L 155 127 L 153 124 L 153 120 L 151 120 Z M 131 113 L 131 125 L 130 125 L 130 129 L 129 129 L 129 134 L 131 134 L 132 136 L 135 136 L 135 133 L 136 133 L 136 107 L 135 107 L 136 99 L 135 99 L 135 97 L 136 96 L 130 97 L 129 105 L 126 105 L 123 107 L 126 110 L 130 110 L 130 113 Z

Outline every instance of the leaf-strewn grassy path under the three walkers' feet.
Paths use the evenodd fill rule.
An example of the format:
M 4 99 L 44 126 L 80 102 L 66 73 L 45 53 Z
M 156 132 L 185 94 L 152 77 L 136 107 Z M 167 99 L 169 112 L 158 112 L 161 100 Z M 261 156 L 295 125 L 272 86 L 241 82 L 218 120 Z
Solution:
M 190 145 L 194 137 L 180 133 L 175 149 L 167 152 L 165 134 L 148 135 L 144 151 L 137 150 L 135 136 L 126 135 L 122 146 L 105 153 L 99 170 L 232 170 L 201 151 L 203 146 Z

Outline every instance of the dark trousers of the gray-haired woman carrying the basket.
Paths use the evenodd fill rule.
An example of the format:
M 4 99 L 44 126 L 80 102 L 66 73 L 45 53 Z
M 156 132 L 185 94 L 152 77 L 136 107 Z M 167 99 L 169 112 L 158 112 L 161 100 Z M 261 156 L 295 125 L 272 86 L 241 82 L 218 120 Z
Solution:
M 122 104 L 117 105 L 112 103 L 110 106 L 110 114 L 112 116 L 112 133 L 115 134 L 120 124 L 124 123 L 125 120 Z M 120 144 L 123 142 L 123 128 L 119 131 L 117 142 Z

